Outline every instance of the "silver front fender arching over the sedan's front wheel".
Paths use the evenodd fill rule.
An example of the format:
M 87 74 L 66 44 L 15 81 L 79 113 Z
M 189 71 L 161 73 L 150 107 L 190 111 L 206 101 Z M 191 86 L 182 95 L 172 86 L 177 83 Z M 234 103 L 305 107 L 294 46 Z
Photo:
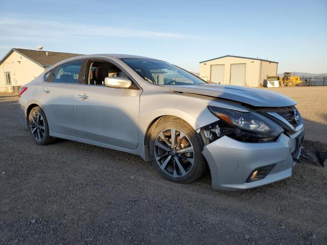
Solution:
M 169 99 L 167 99 L 168 96 Z M 153 101 L 157 101 L 157 103 L 153 103 Z M 227 102 L 213 97 L 170 91 L 167 93 L 156 93 L 144 90 L 140 96 L 138 143 L 144 144 L 149 126 L 157 117 L 166 115 L 179 117 L 188 122 L 194 130 L 217 121 L 218 118 L 208 110 L 208 105 L 248 111 L 247 108 L 238 103 Z

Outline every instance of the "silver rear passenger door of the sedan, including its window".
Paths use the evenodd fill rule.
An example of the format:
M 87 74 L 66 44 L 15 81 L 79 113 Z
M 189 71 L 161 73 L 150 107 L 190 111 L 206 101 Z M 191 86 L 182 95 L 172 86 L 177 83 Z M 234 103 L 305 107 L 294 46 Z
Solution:
M 58 66 L 41 85 L 42 109 L 51 129 L 57 133 L 76 135 L 75 90 L 82 63 L 83 60 L 75 60 Z

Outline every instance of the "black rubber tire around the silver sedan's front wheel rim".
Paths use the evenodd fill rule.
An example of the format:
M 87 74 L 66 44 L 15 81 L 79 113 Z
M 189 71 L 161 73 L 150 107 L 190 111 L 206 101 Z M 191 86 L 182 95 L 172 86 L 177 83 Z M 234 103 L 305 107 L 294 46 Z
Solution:
M 164 170 L 162 170 L 159 166 L 159 163 L 157 162 L 155 158 L 155 141 L 157 137 L 159 137 L 159 134 L 165 130 L 175 129 L 177 132 L 183 133 L 188 140 L 191 142 L 191 146 L 193 146 L 193 153 L 192 153 L 192 161 L 193 165 L 188 171 L 187 174 L 184 176 L 179 177 L 173 177 L 169 174 L 167 174 Z M 185 137 L 185 138 L 186 138 Z M 176 136 L 176 141 L 178 139 L 178 136 Z M 179 138 L 179 140 L 181 140 Z M 189 144 L 190 145 L 190 144 Z M 204 173 L 204 167 L 205 167 L 205 160 L 202 155 L 203 151 L 203 141 L 202 138 L 195 132 L 195 130 L 187 124 L 185 121 L 183 121 L 180 118 L 162 118 L 158 124 L 156 124 L 152 130 L 151 135 L 149 139 L 149 151 L 150 151 L 150 159 L 152 162 L 153 167 L 158 171 L 158 173 L 163 176 L 165 179 L 177 182 L 177 183 L 190 183 L 201 177 Z M 181 154 L 177 154 L 181 155 Z M 174 158 L 174 157 L 173 157 Z M 181 159 L 179 159 L 181 160 Z M 172 160 L 173 164 L 175 166 L 175 160 Z M 181 162 L 179 162 L 181 163 Z

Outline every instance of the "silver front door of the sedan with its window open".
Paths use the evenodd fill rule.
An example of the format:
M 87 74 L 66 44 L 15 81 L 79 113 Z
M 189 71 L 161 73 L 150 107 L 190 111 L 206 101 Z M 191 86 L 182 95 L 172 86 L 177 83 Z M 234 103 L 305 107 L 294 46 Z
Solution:
M 104 86 L 105 77 L 124 76 L 109 62 L 89 62 L 84 85 L 76 90 L 76 130 L 81 138 L 136 149 L 142 90 Z

